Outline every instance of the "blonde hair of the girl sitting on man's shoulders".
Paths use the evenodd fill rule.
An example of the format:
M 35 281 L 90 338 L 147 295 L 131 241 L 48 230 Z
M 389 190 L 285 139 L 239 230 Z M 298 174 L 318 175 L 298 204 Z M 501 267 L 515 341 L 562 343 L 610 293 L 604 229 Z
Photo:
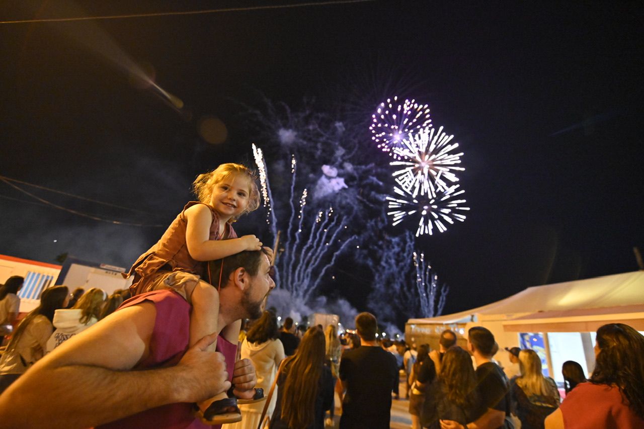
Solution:
M 223 180 L 226 180 L 233 175 L 244 175 L 247 176 L 250 182 L 249 196 L 248 196 L 248 207 L 242 214 L 251 213 L 251 211 L 257 210 L 260 207 L 260 190 L 257 187 L 257 175 L 247 166 L 242 166 L 242 164 L 233 164 L 229 162 L 227 164 L 222 164 L 213 171 L 209 171 L 202 175 L 198 175 L 193 182 L 193 192 L 197 196 L 198 200 L 204 204 L 210 204 L 210 200 L 213 197 L 214 186 Z M 232 218 L 231 220 L 237 220 Z

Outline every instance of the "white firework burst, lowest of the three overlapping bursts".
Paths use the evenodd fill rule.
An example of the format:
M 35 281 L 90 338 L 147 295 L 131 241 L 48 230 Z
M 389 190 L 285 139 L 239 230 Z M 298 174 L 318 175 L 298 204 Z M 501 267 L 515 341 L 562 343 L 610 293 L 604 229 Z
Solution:
M 464 190 L 457 190 L 460 185 L 453 185 L 442 189 L 435 196 L 426 196 L 424 198 L 415 198 L 403 189 L 395 186 L 393 191 L 402 198 L 388 196 L 388 208 L 393 209 L 387 214 L 392 216 L 392 225 L 395 226 L 403 222 L 403 219 L 412 214 L 419 214 L 420 220 L 416 236 L 422 234 L 433 234 L 434 225 L 439 233 L 447 231 L 444 222 L 454 224 L 454 220 L 463 222 L 466 218 L 460 211 L 468 211 L 469 207 L 464 207 L 466 200 L 455 200 L 458 195 L 462 195 Z

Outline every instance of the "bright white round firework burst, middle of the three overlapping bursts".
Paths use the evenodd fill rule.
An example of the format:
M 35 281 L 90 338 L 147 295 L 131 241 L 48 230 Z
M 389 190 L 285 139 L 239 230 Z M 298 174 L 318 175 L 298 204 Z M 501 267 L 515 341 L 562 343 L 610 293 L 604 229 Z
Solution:
M 465 170 L 457 166 L 463 153 L 451 153 L 459 144 L 449 144 L 454 136 L 447 135 L 442 129 L 440 127 L 435 132 L 435 128 L 425 128 L 418 133 L 410 133 L 409 138 L 403 140 L 403 146 L 393 148 L 393 153 L 401 160 L 390 162 L 390 166 L 403 167 L 393 172 L 393 178 L 413 198 L 419 193 L 421 196 L 436 196 L 437 191 L 448 188 L 445 180 L 459 181 L 453 171 Z

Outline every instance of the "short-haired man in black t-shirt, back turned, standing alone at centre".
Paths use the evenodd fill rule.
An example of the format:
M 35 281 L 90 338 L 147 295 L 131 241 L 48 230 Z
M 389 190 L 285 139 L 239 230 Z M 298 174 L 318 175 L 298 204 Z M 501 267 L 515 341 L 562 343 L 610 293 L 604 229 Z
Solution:
M 355 327 L 361 346 L 347 350 L 340 361 L 339 376 L 346 391 L 340 429 L 388 429 L 392 390 L 398 383 L 396 359 L 375 342 L 373 314 L 358 314 Z

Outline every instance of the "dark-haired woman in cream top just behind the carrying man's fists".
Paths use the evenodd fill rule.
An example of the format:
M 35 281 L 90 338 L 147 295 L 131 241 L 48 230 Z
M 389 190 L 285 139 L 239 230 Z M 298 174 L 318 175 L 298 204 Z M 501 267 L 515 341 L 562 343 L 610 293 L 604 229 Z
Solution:
M 252 324 L 242 341 L 240 352 L 242 359 L 251 359 L 257 374 L 256 388 L 268 392 L 275 380 L 279 363 L 284 359 L 284 346 L 278 339 L 278 319 L 273 312 L 265 311 Z M 276 398 L 272 397 L 267 410 L 271 415 L 275 408 Z M 261 419 L 264 401 L 252 404 L 240 404 L 242 421 L 227 424 L 229 429 L 256 429 Z

